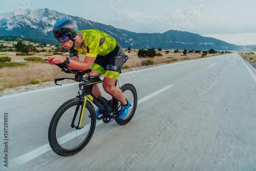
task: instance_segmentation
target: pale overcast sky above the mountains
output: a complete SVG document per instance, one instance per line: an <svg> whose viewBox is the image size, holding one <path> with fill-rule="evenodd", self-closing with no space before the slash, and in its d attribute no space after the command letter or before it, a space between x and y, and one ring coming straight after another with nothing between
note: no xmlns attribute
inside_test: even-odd
<svg viewBox="0 0 256 171"><path fill-rule="evenodd" d="M137 33L180 30L256 45L255 0L0 0L1 13L25 8L48 8Z"/></svg>

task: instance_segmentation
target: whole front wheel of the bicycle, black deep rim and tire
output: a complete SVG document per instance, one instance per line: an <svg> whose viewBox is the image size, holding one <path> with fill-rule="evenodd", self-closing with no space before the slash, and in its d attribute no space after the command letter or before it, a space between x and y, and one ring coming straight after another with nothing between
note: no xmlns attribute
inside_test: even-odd
<svg viewBox="0 0 256 171"><path fill-rule="evenodd" d="M60 156L72 156L80 152L93 136L96 116L93 105L87 101L80 124L83 108L80 98L71 99L60 106L54 114L48 131L48 140L53 151ZM88 117L91 115L91 118ZM74 120L74 125L72 121Z"/></svg>

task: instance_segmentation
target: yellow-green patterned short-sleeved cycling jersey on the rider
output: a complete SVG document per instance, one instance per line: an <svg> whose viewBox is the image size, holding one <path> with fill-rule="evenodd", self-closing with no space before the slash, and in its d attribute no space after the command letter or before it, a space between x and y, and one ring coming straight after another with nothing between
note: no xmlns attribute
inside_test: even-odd
<svg viewBox="0 0 256 171"><path fill-rule="evenodd" d="M75 47L74 50L80 54L97 57L105 56L113 51L117 45L116 40L99 30L82 30L83 46ZM77 53L73 52L73 53ZM70 53L72 53L70 51Z"/></svg>

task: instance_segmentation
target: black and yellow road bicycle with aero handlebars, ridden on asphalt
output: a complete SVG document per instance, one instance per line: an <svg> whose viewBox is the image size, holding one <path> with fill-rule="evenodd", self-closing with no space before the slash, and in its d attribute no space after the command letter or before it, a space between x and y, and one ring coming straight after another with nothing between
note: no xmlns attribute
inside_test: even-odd
<svg viewBox="0 0 256 171"><path fill-rule="evenodd" d="M127 56L125 56L125 61ZM124 61L124 62L125 62ZM78 95L65 103L55 112L50 122L48 131L48 140L53 151L60 156L72 156L80 152L91 140L96 120L109 123L115 120L120 125L125 125L131 121L137 108L137 92L131 83L126 83L119 87L118 80L115 83L121 89L126 100L131 105L127 115L123 119L117 116L121 111L121 103L115 98L106 99L104 97L96 98L92 94L94 84L102 82L98 76L90 76L91 69L86 71L73 70L65 65L58 64L61 71L74 74L74 78L57 78L57 81L71 79L79 83ZM84 75L86 77L83 77ZM81 91L81 93L80 93ZM96 118L93 104L90 99L103 114ZM91 118L88 117L91 115Z"/></svg>

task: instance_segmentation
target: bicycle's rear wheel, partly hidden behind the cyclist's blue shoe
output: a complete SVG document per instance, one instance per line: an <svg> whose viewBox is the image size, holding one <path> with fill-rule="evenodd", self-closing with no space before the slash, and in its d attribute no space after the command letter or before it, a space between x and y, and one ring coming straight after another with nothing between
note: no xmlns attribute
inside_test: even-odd
<svg viewBox="0 0 256 171"><path fill-rule="evenodd" d="M115 120L118 124L125 125L128 122L130 122L134 116L134 113L137 108L138 98L137 98L136 89L132 84L126 83L120 89L122 90L125 99L131 103L131 106L128 110L127 115L123 119L118 119L118 117L115 117ZM116 111L121 110L121 106L122 106L121 103L116 100L116 102L115 102Z"/></svg>

